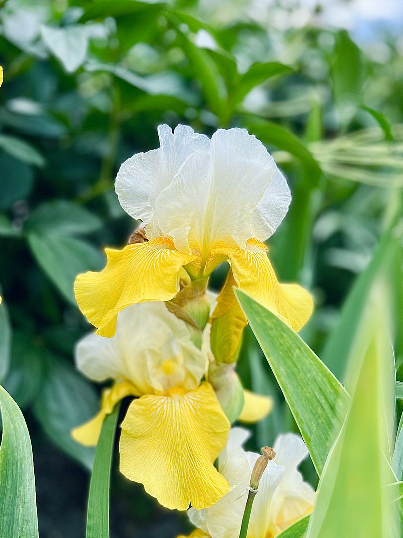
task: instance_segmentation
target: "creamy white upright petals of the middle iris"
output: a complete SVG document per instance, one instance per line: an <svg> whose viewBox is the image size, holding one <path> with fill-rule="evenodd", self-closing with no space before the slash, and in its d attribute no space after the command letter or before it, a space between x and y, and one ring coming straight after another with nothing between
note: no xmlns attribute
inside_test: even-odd
<svg viewBox="0 0 403 538"><path fill-rule="evenodd" d="M94 381L126 379L143 394L195 388L207 357L191 341L186 323L164 303L140 303L118 316L116 334L84 336L76 345L78 370Z"/></svg>

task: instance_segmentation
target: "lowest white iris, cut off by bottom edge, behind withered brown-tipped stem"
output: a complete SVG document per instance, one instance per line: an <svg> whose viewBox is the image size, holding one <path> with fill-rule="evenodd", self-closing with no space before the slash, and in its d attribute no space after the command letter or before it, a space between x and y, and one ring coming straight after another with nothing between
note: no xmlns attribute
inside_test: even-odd
<svg viewBox="0 0 403 538"><path fill-rule="evenodd" d="M190 535L192 538L239 536L251 471L259 457L242 449L248 436L242 428L230 431L218 469L227 478L231 491L210 508L189 509L189 519L198 527ZM304 442L294 434L280 435L274 450L276 457L268 462L254 500L248 538L272 538L313 508L315 492L297 470L308 455Z"/></svg>

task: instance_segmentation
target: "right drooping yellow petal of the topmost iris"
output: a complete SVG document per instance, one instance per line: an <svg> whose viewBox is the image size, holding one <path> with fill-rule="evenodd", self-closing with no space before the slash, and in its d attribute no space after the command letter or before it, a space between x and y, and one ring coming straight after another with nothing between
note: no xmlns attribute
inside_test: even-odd
<svg viewBox="0 0 403 538"><path fill-rule="evenodd" d="M279 284L266 251L256 239L248 240L246 250L228 249L234 280L243 292L299 331L312 315L312 296L297 284Z"/></svg>

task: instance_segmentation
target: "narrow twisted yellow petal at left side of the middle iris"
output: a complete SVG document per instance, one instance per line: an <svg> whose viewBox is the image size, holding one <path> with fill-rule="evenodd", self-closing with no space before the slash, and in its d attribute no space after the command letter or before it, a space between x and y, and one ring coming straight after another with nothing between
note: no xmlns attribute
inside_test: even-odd
<svg viewBox="0 0 403 538"><path fill-rule="evenodd" d="M136 387L129 381L120 381L111 388L105 388L102 393L101 409L92 419L77 428L71 430L71 437L76 443L84 447L96 447L102 424L106 415L110 415L118 401L123 400L126 396L139 396Z"/></svg>

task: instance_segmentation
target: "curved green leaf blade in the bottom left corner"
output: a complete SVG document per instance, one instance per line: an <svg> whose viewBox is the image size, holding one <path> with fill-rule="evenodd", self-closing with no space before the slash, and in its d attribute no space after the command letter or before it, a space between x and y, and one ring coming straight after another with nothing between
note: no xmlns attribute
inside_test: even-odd
<svg viewBox="0 0 403 538"><path fill-rule="evenodd" d="M0 448L0 536L39 538L30 434L24 416L0 386L3 438Z"/></svg>

